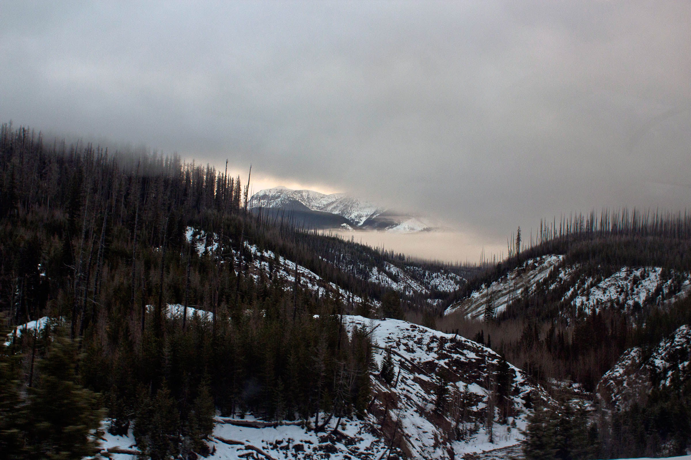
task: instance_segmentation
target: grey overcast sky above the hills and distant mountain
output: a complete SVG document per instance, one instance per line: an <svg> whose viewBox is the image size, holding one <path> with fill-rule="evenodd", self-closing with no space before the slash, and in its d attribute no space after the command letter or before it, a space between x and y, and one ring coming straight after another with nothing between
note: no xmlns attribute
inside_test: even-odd
<svg viewBox="0 0 691 460"><path fill-rule="evenodd" d="M488 241L691 203L691 2L8 1L0 120L352 191Z"/></svg>

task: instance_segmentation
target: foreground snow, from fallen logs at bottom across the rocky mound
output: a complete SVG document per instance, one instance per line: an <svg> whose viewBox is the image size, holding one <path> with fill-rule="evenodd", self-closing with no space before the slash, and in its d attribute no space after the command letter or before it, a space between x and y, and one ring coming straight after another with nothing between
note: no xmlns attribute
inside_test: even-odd
<svg viewBox="0 0 691 460"><path fill-rule="evenodd" d="M188 313L189 314L189 313ZM495 368L499 356L478 343L443 334L406 321L395 319L370 320L359 316L343 316L346 330L362 328L372 334L375 359L381 366L384 352L390 347L395 363L395 381L389 386L377 378L372 381L372 397L363 420L343 419L335 426L334 418L325 431L315 433L314 417L307 421L282 421L281 423L256 423L248 416L243 420L216 417L213 439L215 448L209 459L316 459L377 460L388 451L390 434L397 426L398 436L403 439L403 450L409 458L446 460L460 458L466 452L484 452L514 446L522 440L520 430L526 427L524 397L531 394L533 401L547 400L549 396L540 386L527 381L523 372L510 366L513 373L511 403L517 410L515 428L495 424L494 442L489 443L484 428L466 441L451 441L448 432L451 421L433 412L435 373L444 368L453 376L450 383L453 394L468 385L468 391L476 401L471 412L484 419L482 410L487 397L486 370ZM384 401L389 401L384 404ZM474 412L473 412L474 411ZM321 414L323 421L325 414ZM514 420L510 417L510 420ZM238 426L247 421L262 428ZM381 427L385 426L384 434ZM466 427L472 425L470 419ZM334 432L334 429L337 430ZM106 433L104 449L124 449L128 453L112 453L113 459L129 459L136 449L131 437L114 437ZM453 457L452 457L453 454Z"/></svg>

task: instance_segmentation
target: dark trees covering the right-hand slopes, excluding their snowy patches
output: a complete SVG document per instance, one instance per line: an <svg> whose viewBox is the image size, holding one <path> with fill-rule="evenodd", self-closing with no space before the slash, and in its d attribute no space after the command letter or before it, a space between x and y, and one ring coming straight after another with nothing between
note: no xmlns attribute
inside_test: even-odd
<svg viewBox="0 0 691 460"><path fill-rule="evenodd" d="M439 328L458 330L465 337L487 343L547 386L551 379L571 379L594 391L600 377L627 348L640 346L644 355L649 354L663 337L691 324L691 299L662 307L691 272L691 221L687 213L605 210L600 216L591 213L562 218L549 226L542 223L537 236L519 235L509 241L509 259L470 279L449 302L489 286L529 259L547 254L565 254L565 258L529 292L511 300L495 319L480 322L452 315L437 318ZM624 308L620 301L601 304L597 311L573 306L567 295L569 288L583 286L587 279L597 283L625 266L663 268L661 279L669 283L667 292L659 288L644 305L634 303L632 308ZM570 269L569 279L560 280L560 269L566 267ZM645 401L634 401L625 412L610 416L600 408L588 416L591 426L581 424L577 429L574 423L587 417L583 413L577 417L574 408L565 403L538 410L527 432L527 457L683 454L691 439L689 394L688 382L679 382L654 391ZM559 434L560 430L570 430L570 434ZM568 442L574 445L568 447Z"/></svg>

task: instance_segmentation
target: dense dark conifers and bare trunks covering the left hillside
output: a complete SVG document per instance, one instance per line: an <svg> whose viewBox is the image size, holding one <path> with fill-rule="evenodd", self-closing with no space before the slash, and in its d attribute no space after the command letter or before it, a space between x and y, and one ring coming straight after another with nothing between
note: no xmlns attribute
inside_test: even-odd
<svg viewBox="0 0 691 460"><path fill-rule="evenodd" d="M40 134L5 125L0 190L5 326L52 319L0 354L0 377L17 390L0 418L3 446L11 446L0 450L8 458L34 451L79 458L93 448L85 430L60 454L53 443L59 427L30 432L10 417L34 407L37 396L27 387L47 394L72 386L53 395L63 400L46 423L67 420L69 400L81 394L89 410L75 412L82 417L75 423L93 428L104 408L107 429L133 428L152 459L204 454L216 411L304 419L323 430L320 413L355 416L366 409L372 367L366 331L345 334L343 306L328 293L284 289L273 275L255 276L245 242L307 266L312 261L325 279L347 283L348 274L316 262L310 251L325 239L249 214L239 178L177 157L45 143ZM188 226L216 234L216 249L199 254L185 237ZM168 303L213 316L171 317ZM51 370L67 352L72 373L51 383Z"/></svg>

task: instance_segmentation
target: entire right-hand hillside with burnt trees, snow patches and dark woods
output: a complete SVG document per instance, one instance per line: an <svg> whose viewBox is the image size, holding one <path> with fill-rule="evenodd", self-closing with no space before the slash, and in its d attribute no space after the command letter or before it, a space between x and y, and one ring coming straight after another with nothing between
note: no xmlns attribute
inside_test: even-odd
<svg viewBox="0 0 691 460"><path fill-rule="evenodd" d="M578 458L683 453L691 343L679 330L691 324L690 250L685 213L579 215L543 227L530 244L519 230L511 257L469 279L437 325L498 350L565 401L585 401L600 447ZM663 363L670 343L676 352L664 372L679 372L666 379L650 363ZM612 416L612 394L625 413ZM535 423L558 430L573 410L551 408Z"/></svg>

